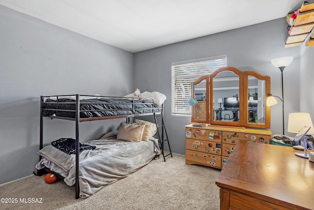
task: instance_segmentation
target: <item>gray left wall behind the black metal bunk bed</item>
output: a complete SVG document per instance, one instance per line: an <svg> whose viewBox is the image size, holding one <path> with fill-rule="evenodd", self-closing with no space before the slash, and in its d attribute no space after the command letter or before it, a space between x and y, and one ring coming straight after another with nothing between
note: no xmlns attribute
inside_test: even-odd
<svg viewBox="0 0 314 210"><path fill-rule="evenodd" d="M126 95L133 54L0 6L0 183L32 174L39 160L39 97ZM82 122L80 142L119 120ZM45 119L45 144L75 138L75 122ZM124 121L124 119L123 119Z"/></svg>

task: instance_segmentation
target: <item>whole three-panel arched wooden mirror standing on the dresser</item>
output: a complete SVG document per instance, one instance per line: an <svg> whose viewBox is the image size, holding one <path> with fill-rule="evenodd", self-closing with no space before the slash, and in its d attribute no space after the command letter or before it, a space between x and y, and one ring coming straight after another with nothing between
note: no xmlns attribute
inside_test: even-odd
<svg viewBox="0 0 314 210"><path fill-rule="evenodd" d="M207 81L204 76L197 83L194 82L197 100L200 99L197 95L200 79ZM270 128L270 108L266 106L270 77L255 71L242 72L234 67L224 67L213 72L206 84L209 85L209 92L205 95L206 99L202 100L205 105L200 104L202 108L206 108L206 117L199 115L203 118L198 120L200 106L195 105L192 107L192 122Z"/></svg>

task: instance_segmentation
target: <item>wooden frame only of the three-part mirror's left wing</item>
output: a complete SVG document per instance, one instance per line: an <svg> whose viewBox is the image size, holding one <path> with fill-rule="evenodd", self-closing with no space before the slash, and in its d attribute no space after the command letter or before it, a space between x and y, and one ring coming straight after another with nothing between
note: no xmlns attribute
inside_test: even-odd
<svg viewBox="0 0 314 210"><path fill-rule="evenodd" d="M195 120L195 106L192 106L191 107L191 122L203 122L203 123L209 123L209 75L204 75L204 76L201 76L200 78L198 78L194 83L193 87L192 87L192 83L191 83L191 88L193 88L193 92L195 93L195 89L194 89L194 86L195 85L198 85L199 83L201 83L203 80L205 80L206 82L206 102L205 102L205 105L206 105L206 108L204 109L205 110L205 120ZM194 98L195 94L193 95L193 98Z"/></svg>

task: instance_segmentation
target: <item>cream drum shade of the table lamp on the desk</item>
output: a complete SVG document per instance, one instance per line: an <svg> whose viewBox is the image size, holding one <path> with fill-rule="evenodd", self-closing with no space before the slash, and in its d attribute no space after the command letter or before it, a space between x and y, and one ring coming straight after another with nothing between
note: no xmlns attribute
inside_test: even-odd
<svg viewBox="0 0 314 210"><path fill-rule="evenodd" d="M313 122L309 113L290 113L288 118L288 132L298 133L304 126L311 127L308 133L314 133Z"/></svg>

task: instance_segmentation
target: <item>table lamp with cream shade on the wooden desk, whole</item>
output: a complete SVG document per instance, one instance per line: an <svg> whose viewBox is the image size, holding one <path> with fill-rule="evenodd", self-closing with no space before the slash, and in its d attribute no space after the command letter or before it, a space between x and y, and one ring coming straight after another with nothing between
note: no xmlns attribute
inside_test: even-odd
<svg viewBox="0 0 314 210"><path fill-rule="evenodd" d="M293 149L304 150L303 152L295 152L295 155L303 158L309 158L307 153L307 133L314 133L313 122L309 113L290 113L288 118L288 132L297 133L295 140L299 141L299 145L293 146ZM303 141L303 147L301 146Z"/></svg>

